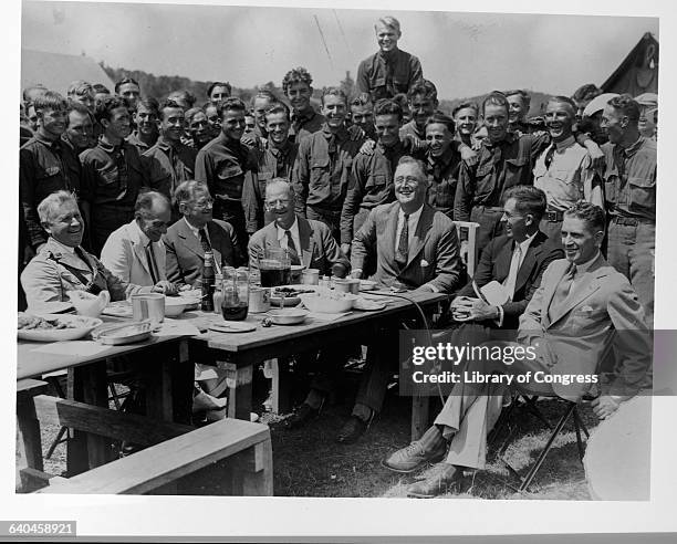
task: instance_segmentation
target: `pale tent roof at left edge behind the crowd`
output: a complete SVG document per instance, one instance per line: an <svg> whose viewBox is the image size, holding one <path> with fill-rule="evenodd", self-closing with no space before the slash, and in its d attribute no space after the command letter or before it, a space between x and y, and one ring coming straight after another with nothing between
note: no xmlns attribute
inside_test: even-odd
<svg viewBox="0 0 677 544"><path fill-rule="evenodd" d="M69 84L75 80L84 80L92 84L102 83L112 93L114 92L115 83L94 59L84 55L21 50L22 90L42 83L49 90L65 96Z"/></svg>

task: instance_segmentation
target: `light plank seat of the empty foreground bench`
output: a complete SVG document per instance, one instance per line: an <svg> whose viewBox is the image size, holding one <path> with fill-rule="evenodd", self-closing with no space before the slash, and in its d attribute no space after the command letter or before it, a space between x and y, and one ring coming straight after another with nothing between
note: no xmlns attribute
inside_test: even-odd
<svg viewBox="0 0 677 544"><path fill-rule="evenodd" d="M270 443L267 426L223 419L71 478L67 484L56 484L39 492L147 493L261 442ZM268 462L265 448L259 458L261 464ZM262 472L265 473L265 470L262 469ZM251 489L268 491L269 487L251 484Z"/></svg>

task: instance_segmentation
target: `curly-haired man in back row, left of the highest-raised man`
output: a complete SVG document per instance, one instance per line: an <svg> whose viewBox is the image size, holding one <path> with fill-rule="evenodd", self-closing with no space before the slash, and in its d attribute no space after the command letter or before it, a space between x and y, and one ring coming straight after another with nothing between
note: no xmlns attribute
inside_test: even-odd
<svg viewBox="0 0 677 544"><path fill-rule="evenodd" d="M292 126L289 134L296 144L320 130L324 123L324 117L313 109L310 102L313 95L312 83L311 74L302 66L290 70L282 80L282 92L292 106Z"/></svg>

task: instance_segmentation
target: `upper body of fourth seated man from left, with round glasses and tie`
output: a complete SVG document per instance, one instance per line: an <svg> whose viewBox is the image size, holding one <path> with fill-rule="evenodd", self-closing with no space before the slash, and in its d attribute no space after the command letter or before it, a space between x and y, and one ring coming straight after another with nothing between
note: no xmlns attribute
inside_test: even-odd
<svg viewBox="0 0 677 544"><path fill-rule="evenodd" d="M267 248L283 248L289 251L292 264L317 269L321 275L333 273L345 278L350 262L329 227L322 221L296 215L294 206L294 192L285 179L269 181L265 210L274 220L252 234L248 248L251 266L258 266L258 260L263 258Z"/></svg>

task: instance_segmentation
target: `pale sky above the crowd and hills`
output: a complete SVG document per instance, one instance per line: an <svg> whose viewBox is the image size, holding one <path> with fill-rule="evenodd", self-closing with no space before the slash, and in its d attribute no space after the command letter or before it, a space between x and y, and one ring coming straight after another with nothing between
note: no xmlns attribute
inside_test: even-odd
<svg viewBox="0 0 677 544"><path fill-rule="evenodd" d="M387 13L442 98L512 87L570 95L603 83L644 32L658 38L658 19L639 17L27 1L21 39L24 49L241 87L280 85L302 65L322 87L356 76Z"/></svg>

